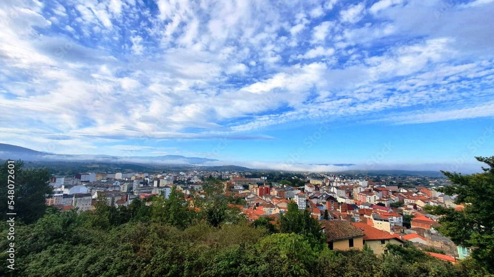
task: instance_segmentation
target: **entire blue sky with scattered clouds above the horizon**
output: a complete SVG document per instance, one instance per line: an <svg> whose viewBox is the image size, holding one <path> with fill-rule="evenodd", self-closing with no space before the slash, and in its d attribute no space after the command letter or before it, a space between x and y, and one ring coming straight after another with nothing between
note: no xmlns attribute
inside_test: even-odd
<svg viewBox="0 0 494 277"><path fill-rule="evenodd" d="M0 142L480 171L474 157L494 155L493 15L494 0L3 1Z"/></svg>

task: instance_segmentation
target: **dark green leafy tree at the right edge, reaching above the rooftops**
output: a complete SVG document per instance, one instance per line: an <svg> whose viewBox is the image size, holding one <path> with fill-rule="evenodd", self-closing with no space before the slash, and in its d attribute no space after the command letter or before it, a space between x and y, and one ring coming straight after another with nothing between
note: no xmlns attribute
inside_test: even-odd
<svg viewBox="0 0 494 277"><path fill-rule="evenodd" d="M441 206L426 207L432 214L439 215L439 231L453 242L472 247L471 256L491 274L494 273L494 156L475 157L489 167L483 173L462 175L445 172L453 185L438 191L454 196L461 210Z"/></svg>

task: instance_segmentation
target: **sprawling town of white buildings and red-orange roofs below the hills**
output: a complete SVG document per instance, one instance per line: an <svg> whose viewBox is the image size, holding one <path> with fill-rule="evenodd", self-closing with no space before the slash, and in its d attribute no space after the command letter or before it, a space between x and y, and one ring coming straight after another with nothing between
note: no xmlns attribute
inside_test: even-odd
<svg viewBox="0 0 494 277"><path fill-rule="evenodd" d="M82 212L93 210L103 197L109 206L128 207L134 199L147 202L153 195L167 199L172 189L190 201L192 195L204 194L208 180L213 179L222 194L245 200L236 206L249 222L266 217L276 224L290 202L307 210L320 220L331 250L362 250L367 244L373 253L384 254L388 243L409 242L452 263L469 256L470 249L442 236L435 228L438 217L424 210L426 206L463 208L454 204L454 197L437 191L451 181L427 176L359 177L363 175L198 170L79 173L53 176L54 194L46 205Z"/></svg>

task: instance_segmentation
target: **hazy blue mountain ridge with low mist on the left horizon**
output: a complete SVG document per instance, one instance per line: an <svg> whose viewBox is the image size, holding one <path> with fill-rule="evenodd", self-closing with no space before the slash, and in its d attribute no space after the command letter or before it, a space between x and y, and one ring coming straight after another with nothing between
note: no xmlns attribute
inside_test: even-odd
<svg viewBox="0 0 494 277"><path fill-rule="evenodd" d="M218 160L199 157L184 157L179 155L166 155L158 157L119 157L109 155L67 155L40 152L29 148L0 143L0 159L40 161L40 162L99 162L117 164L167 164L167 165L206 165Z"/></svg>

